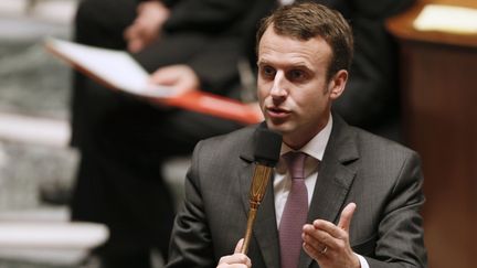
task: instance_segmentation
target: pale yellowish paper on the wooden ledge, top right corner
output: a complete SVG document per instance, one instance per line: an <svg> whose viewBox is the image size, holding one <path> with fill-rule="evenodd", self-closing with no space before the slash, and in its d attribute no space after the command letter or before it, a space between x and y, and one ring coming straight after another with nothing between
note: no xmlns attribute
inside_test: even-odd
<svg viewBox="0 0 477 268"><path fill-rule="evenodd" d="M420 31L477 34L477 9L426 4L413 24Z"/></svg>

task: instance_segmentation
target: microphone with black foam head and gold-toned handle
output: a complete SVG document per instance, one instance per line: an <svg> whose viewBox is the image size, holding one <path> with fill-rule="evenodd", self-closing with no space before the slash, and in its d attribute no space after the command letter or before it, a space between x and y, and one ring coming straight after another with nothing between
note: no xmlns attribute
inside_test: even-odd
<svg viewBox="0 0 477 268"><path fill-rule="evenodd" d="M244 243L241 249L242 254L248 251L248 244L252 237L252 228L255 222L259 204L265 195L265 191L272 176L273 169L278 162L282 148L282 133L261 128L257 129L255 143L255 170L250 190L250 212L247 226L244 236Z"/></svg>

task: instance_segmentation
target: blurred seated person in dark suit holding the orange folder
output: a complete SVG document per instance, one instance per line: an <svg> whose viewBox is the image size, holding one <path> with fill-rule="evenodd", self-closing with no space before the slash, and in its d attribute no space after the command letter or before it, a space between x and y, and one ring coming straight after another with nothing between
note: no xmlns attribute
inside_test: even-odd
<svg viewBox="0 0 477 268"><path fill-rule="evenodd" d="M153 83L172 90L202 89L237 99L244 33L254 32L261 12L269 10L258 4L85 0L76 14L75 41L128 50L153 73ZM80 149L81 162L72 219L108 226L110 237L96 251L103 267L150 267L152 249L166 260L174 200L162 178L163 161L190 154L198 140L242 125L158 107L77 73L73 86L72 144Z"/></svg>

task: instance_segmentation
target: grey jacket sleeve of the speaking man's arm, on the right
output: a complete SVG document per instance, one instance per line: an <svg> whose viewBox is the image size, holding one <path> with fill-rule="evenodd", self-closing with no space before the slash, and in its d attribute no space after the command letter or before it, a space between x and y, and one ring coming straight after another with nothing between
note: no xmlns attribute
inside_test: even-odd
<svg viewBox="0 0 477 268"><path fill-rule="evenodd" d="M423 175L413 153L403 164L379 224L379 239L370 267L427 267L421 207Z"/></svg>

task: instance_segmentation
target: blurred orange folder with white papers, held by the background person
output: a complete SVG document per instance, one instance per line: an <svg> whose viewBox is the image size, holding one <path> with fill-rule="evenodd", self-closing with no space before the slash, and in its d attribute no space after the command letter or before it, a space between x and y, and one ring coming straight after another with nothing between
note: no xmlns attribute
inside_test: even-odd
<svg viewBox="0 0 477 268"><path fill-rule="evenodd" d="M148 84L149 74L124 51L47 39L45 49L72 67L110 89L145 98L158 105L203 112L241 124L256 124L262 116L239 100L201 90L172 95L170 88Z"/></svg>

